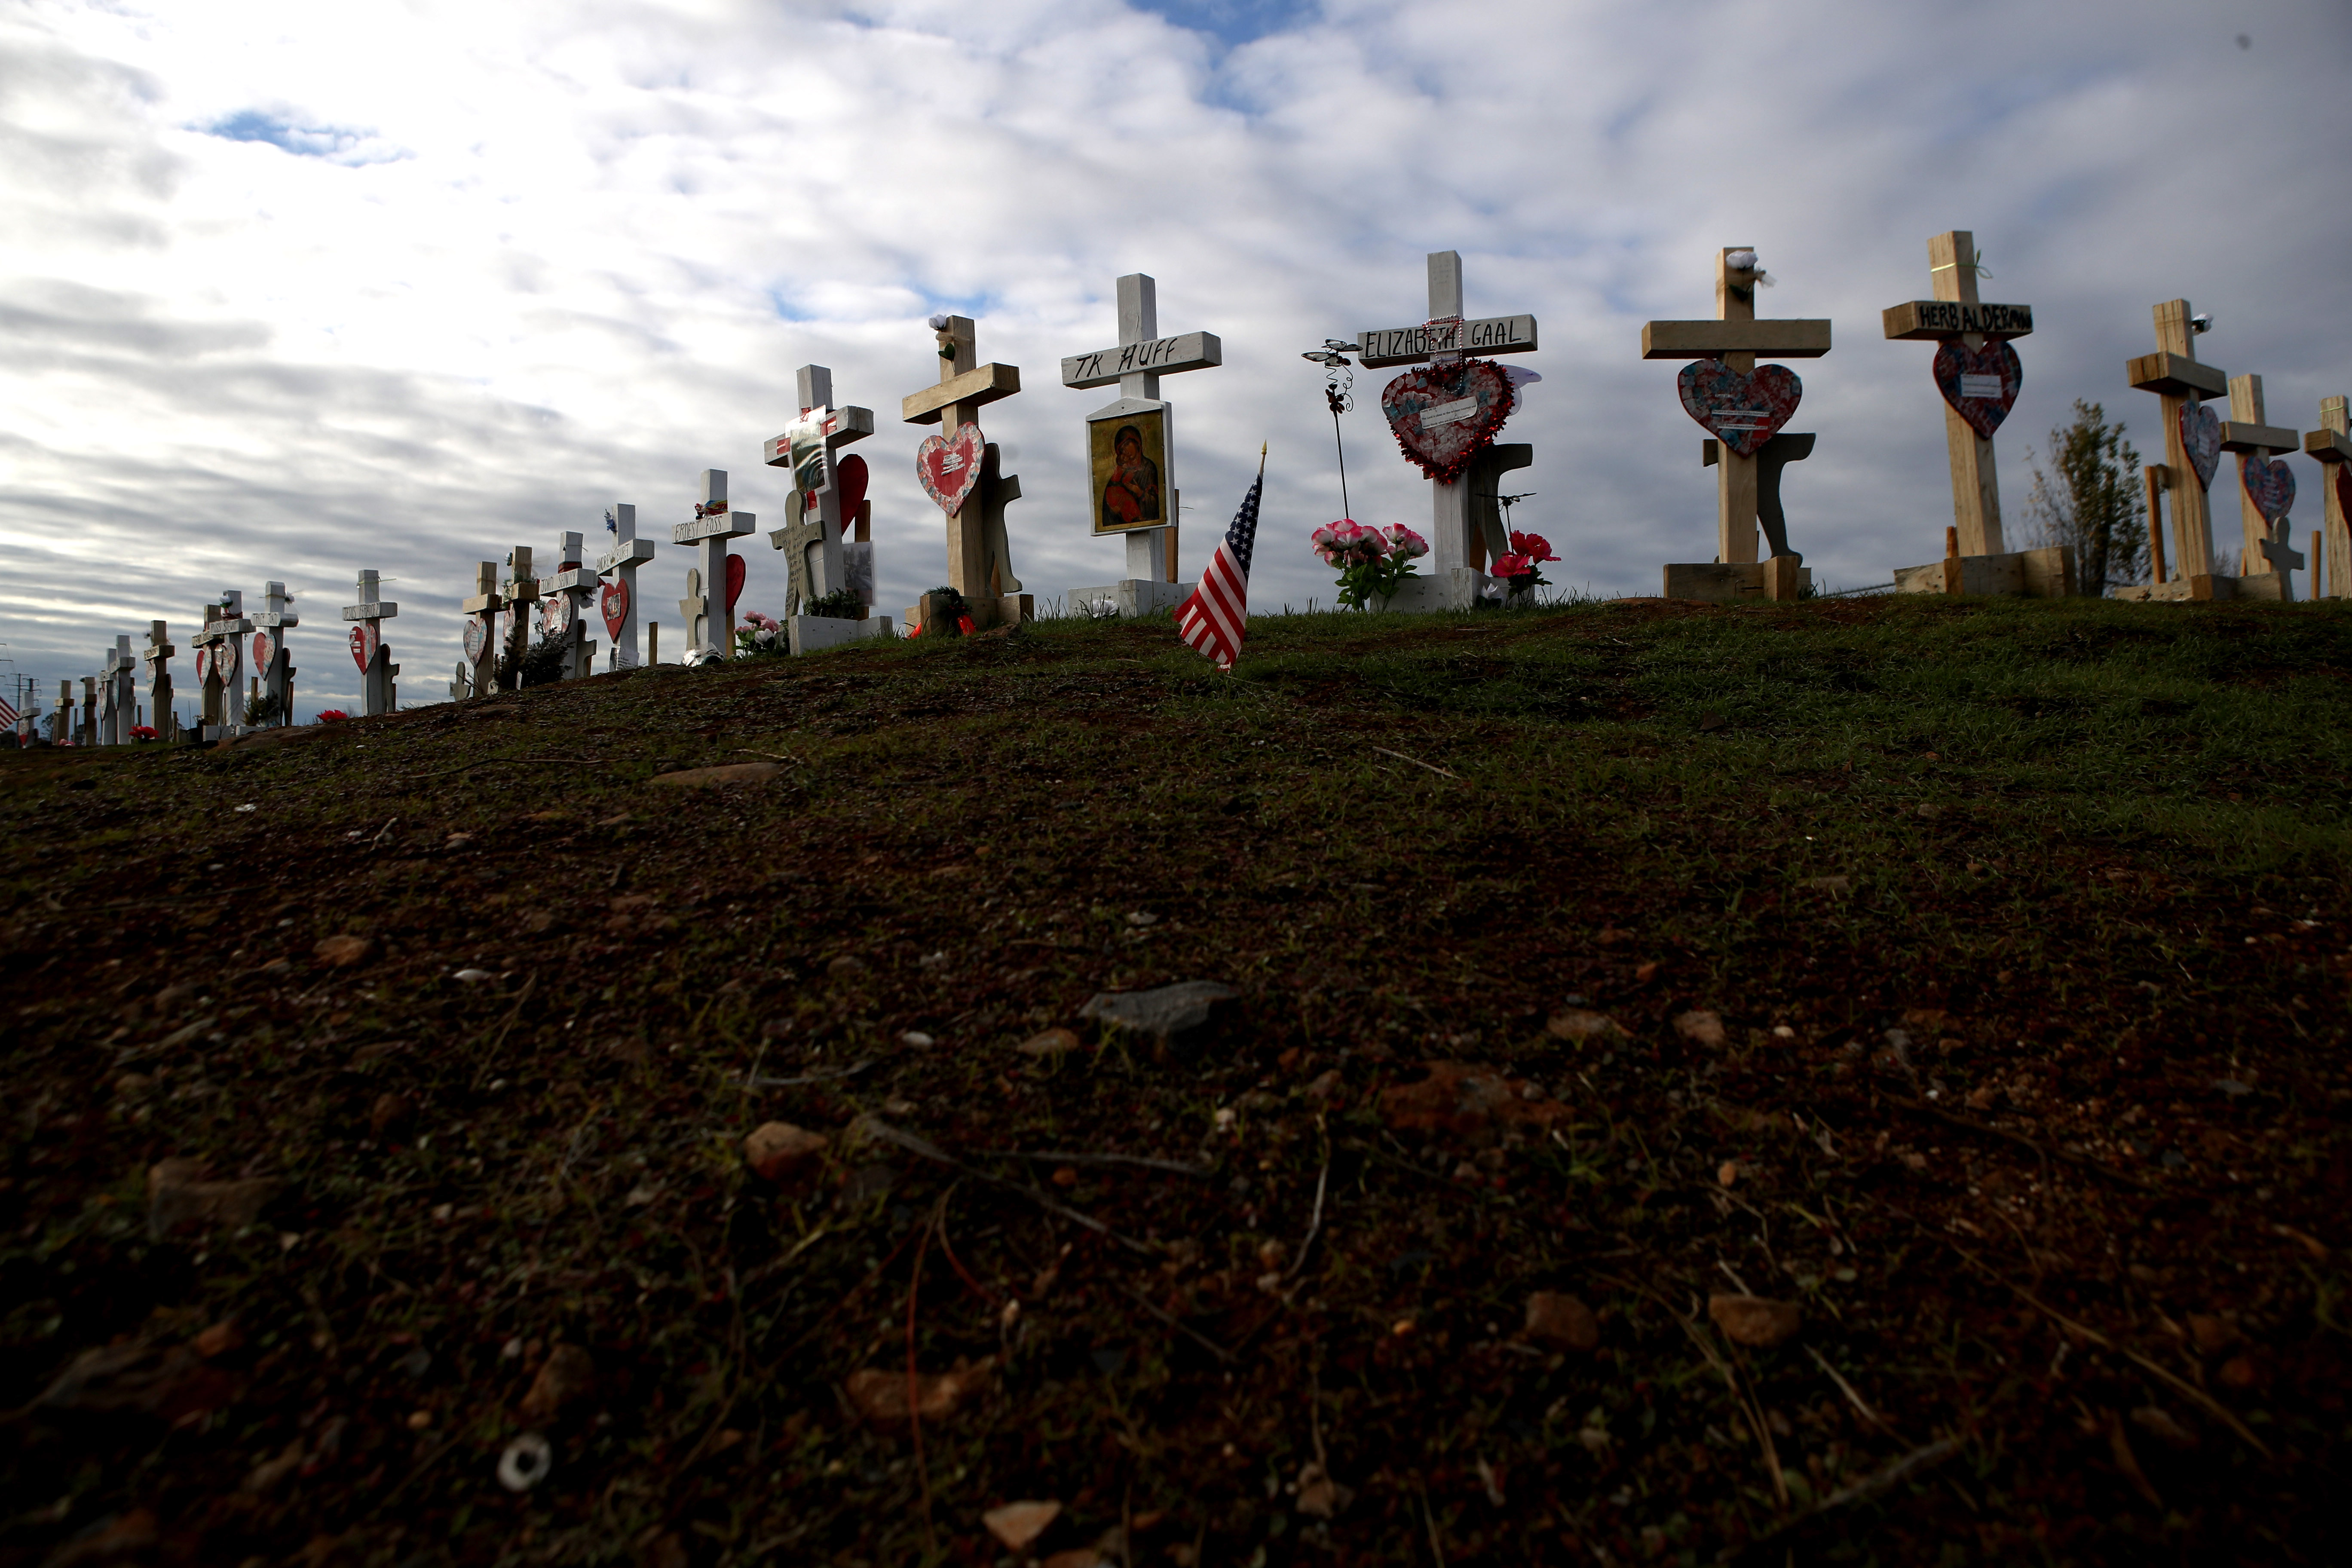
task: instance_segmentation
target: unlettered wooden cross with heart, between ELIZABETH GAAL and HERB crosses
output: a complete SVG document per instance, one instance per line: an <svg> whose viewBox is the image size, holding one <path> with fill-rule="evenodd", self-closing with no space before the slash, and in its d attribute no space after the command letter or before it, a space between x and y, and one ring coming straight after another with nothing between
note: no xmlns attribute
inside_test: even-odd
<svg viewBox="0 0 2352 1568"><path fill-rule="evenodd" d="M1644 360L1686 360L1684 411L1719 437L1715 465L1715 541L1719 562L1757 559L1757 451L1797 411L1804 383L1785 364L1757 369L1757 355L1818 360L1830 353L1830 322L1757 320L1764 266L1748 244L1715 254L1712 322L1646 322Z"/></svg>

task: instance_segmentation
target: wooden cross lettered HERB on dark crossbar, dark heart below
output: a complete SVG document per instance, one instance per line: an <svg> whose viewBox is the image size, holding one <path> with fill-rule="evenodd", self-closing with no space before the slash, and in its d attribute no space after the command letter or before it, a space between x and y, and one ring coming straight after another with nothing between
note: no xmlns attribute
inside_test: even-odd
<svg viewBox="0 0 2352 1568"><path fill-rule="evenodd" d="M2034 329L2032 306L1987 306L1976 296L1976 235L1955 228L1926 242L1929 289L1936 299L1889 306L1886 336L1936 343L1936 390L1943 393L1943 435L1952 454L1952 524L1962 555L2006 555L2002 487L1992 468L1992 433L2018 402L2025 367L2011 339Z"/></svg>

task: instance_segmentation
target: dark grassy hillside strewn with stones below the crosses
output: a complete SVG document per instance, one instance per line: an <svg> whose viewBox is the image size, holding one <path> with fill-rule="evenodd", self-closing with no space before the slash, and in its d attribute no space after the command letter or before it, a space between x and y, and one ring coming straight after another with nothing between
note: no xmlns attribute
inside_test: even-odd
<svg viewBox="0 0 2352 1568"><path fill-rule="evenodd" d="M2340 1559L2347 672L1049 623L12 755L0 1563Z"/></svg>

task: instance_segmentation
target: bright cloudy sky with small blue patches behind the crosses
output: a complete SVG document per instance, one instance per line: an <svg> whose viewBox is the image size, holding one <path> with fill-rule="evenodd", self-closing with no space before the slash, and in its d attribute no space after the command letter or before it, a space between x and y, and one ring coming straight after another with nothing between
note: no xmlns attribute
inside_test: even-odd
<svg viewBox="0 0 2352 1568"><path fill-rule="evenodd" d="M1929 294L1936 230L1973 228L1985 296L2034 306L2013 529L2074 397L2161 447L2122 381L2154 301L2216 315L2201 355L2260 371L2272 423L2352 390L2347 80L2343 0L0 0L0 656L47 698L115 632L160 616L186 646L205 595L280 578L303 712L355 708L339 611L374 567L402 698L440 701L473 562L548 559L609 501L666 541L703 468L781 527L760 442L807 362L877 414L858 451L906 604L946 574L896 418L936 378L934 310L1023 367L983 421L1028 491L1023 583L1110 581L1080 468L1105 393L1056 360L1115 341L1129 270L1162 331L1225 341L1164 383L1185 562L1265 440L1251 599L1329 602L1305 534L1338 515L1331 421L1298 350L1418 322L1430 249L1463 254L1472 315L1541 320L1519 520L1555 581L1621 595L1715 555L1700 430L1639 327L1712 315L1715 249L1755 244L1764 313L1837 324L1797 367L1795 545L1884 583L1950 522L1929 348L1879 334ZM1345 440L1355 515L1425 527L1374 395ZM781 557L746 555L743 604L781 609ZM684 564L644 576L673 651Z"/></svg>

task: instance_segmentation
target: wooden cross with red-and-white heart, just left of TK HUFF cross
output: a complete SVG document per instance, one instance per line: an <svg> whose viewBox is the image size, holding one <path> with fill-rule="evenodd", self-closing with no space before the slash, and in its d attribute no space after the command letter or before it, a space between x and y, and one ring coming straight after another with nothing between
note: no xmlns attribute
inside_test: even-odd
<svg viewBox="0 0 2352 1568"><path fill-rule="evenodd" d="M938 435L927 435L915 449L915 480L948 515L948 585L971 604L976 625L1023 621L1033 604L1014 576L1011 543L988 527L993 496L983 494L983 482L990 447L976 423L983 404L1021 390L1021 367L978 364L978 329L969 315L934 315L931 331L938 383L901 397L898 418L938 425ZM1011 477L993 484L1011 484ZM908 623L922 628L920 607Z"/></svg>

